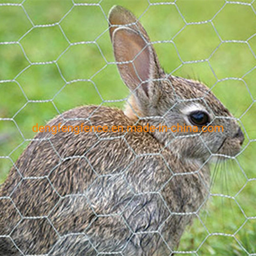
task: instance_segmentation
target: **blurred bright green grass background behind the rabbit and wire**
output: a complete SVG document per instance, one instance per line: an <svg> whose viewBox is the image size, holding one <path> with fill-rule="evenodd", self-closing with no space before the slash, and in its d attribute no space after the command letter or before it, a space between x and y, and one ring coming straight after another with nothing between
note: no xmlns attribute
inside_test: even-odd
<svg viewBox="0 0 256 256"><path fill-rule="evenodd" d="M0 3L20 2L0 0ZM151 3L159 2L172 1L151 0ZM174 71L174 75L207 84L231 112L240 117L249 139L256 139L256 108L253 104L256 99L256 68L253 69L256 66L256 36L253 36L256 33L256 14L251 6L226 4L212 24L189 25L178 33L185 23L173 4L148 8L147 0L103 0L100 5L105 15L114 4L127 7L137 17L142 15L140 20L152 41L173 39L173 42L154 44L165 71ZM186 22L198 22L212 19L225 1L177 0L176 4ZM72 7L72 2L27 0L23 6L33 23L42 25L60 21ZM255 10L256 1L252 6ZM121 81L116 66L106 65L114 61L114 57L103 12L99 6L75 6L60 22L66 38L59 26L33 28L23 37L33 27L23 9L20 6L0 6L0 42L20 42L0 44L0 80L15 78L15 82L0 84L0 117L14 117L15 121L0 121L0 156L9 156L8 159L0 158L0 182L4 181L12 161L16 161L28 144L21 133L25 139L33 138L35 134L32 126L35 123L43 125L58 114L54 105L60 112L85 104L101 104L102 100L103 105L123 106L124 101L118 100L127 96L128 89ZM221 39L249 38L248 44L229 41L218 47ZM68 41L92 43L68 47ZM209 62L181 65L182 61L205 60L210 56ZM25 69L29 65L28 60L57 60L57 65L32 65ZM243 80L218 81L227 77ZM91 81L66 84L66 81L76 79ZM52 101L28 103L27 100ZM111 100L117 101L108 102ZM240 256L247 255L246 252L256 253L256 221L246 219L256 216L256 182L247 180L256 178L253 161L256 142L248 141L246 138L244 151L237 161L229 161L219 167L212 188L213 193L235 196L236 201L211 197L208 206L203 206L199 213L200 220L196 218L194 224L188 227L179 250L196 251L199 248L198 255ZM237 195L241 188L242 191ZM209 235L212 233L235 234L235 237Z"/></svg>

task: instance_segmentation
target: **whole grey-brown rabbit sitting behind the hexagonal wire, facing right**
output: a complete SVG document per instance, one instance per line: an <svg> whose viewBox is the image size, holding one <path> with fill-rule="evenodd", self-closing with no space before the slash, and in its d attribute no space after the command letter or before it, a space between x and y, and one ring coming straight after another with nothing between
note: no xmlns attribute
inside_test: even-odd
<svg viewBox="0 0 256 256"><path fill-rule="evenodd" d="M113 6L108 17L131 92L125 110L82 106L47 124L109 132L36 134L0 188L0 255L174 255L209 195L212 155L241 150L244 134L220 100L201 82L165 74L130 11ZM198 131L110 131L178 123ZM209 124L223 131L202 132Z"/></svg>

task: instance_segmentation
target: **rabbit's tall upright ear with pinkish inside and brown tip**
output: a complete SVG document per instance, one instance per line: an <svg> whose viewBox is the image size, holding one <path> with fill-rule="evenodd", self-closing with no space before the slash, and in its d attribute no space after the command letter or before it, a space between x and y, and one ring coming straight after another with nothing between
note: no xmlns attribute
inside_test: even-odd
<svg viewBox="0 0 256 256"><path fill-rule="evenodd" d="M137 89L135 95L140 103L154 105L159 95L159 81L154 79L159 78L160 68L145 29L138 24L131 27L122 26L127 22L136 21L133 14L123 7L114 7L109 17L111 24L120 25L110 27L110 36L115 59L118 62L117 67L124 83L131 91Z"/></svg>

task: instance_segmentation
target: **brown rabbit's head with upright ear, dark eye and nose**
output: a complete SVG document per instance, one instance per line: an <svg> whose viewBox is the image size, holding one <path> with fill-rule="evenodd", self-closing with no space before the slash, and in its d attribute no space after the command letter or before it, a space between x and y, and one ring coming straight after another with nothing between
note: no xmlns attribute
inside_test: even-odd
<svg viewBox="0 0 256 256"><path fill-rule="evenodd" d="M220 100L198 81L165 74L147 32L131 12L114 6L109 12L109 22L117 67L132 92L126 116L155 127L159 123L169 128L177 124L182 128L196 126L197 131L181 132L173 128L174 132L170 129L152 132L163 147L180 157L205 161L212 154L235 156L244 135ZM217 130L202 132L203 125ZM214 126L221 126L220 131Z"/></svg>

